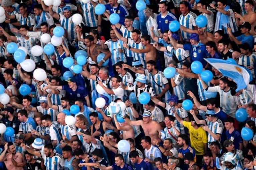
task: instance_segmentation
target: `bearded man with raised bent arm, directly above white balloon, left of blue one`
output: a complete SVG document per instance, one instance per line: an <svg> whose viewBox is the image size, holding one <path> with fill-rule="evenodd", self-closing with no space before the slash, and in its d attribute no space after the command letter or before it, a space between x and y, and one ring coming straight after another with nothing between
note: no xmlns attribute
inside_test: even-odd
<svg viewBox="0 0 256 170"><path fill-rule="evenodd" d="M71 105L70 105L70 99L68 97L62 97L60 99L60 105L52 105L51 99L50 99L50 94L47 95L47 102L48 106L54 110L57 110L58 112L63 112L63 110L69 110Z"/></svg>

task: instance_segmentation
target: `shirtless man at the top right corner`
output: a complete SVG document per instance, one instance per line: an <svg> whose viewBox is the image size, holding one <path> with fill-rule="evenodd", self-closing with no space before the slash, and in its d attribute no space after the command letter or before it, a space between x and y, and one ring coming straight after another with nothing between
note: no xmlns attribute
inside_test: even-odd
<svg viewBox="0 0 256 170"><path fill-rule="evenodd" d="M256 13L253 11L254 2L252 0L247 0L244 3L244 9L247 12L244 16L241 16L238 13L234 13L236 18L236 25L239 27L244 22L249 22L251 24L250 34L255 35L254 27L256 26Z"/></svg>

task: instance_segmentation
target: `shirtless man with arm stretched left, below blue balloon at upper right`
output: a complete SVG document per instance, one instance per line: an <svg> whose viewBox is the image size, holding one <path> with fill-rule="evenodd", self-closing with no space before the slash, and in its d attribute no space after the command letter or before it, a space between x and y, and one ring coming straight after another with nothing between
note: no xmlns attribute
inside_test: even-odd
<svg viewBox="0 0 256 170"><path fill-rule="evenodd" d="M206 42L209 42L209 41L215 42L215 41L214 41L214 36L213 36L213 34L207 32L207 31L206 31L206 27L204 27L204 28L198 27L197 30L191 30L191 29L188 29L188 28L186 28L186 27L180 25L180 29L183 30L183 31L185 31L185 32L187 32L187 33L189 33L189 34L192 34L192 33L198 34L198 35L199 35L199 40L200 40L203 44L205 44ZM217 42L216 42L216 45L218 45Z"/></svg>

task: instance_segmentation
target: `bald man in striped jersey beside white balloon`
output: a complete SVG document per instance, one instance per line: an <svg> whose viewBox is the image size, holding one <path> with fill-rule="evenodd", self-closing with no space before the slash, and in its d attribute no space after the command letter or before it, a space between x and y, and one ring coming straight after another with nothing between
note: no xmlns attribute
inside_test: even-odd
<svg viewBox="0 0 256 170"><path fill-rule="evenodd" d="M77 139L76 127L74 125L68 126L65 123L65 117L66 117L66 114L63 112L59 113L57 116L57 121L60 124L60 132L62 137L65 136L66 140L73 142L74 140ZM67 145L67 143L63 142L61 144L61 147L65 145Z"/></svg>

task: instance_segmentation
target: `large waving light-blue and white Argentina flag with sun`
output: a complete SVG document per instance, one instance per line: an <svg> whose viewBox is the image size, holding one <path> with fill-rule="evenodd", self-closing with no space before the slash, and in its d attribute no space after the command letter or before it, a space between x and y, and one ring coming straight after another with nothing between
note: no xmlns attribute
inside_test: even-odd
<svg viewBox="0 0 256 170"><path fill-rule="evenodd" d="M252 81L251 71L247 68L229 62L223 59L217 58L204 58L209 64L216 68L219 72L228 78L233 79L237 84L236 92L247 87L250 81Z"/></svg>

